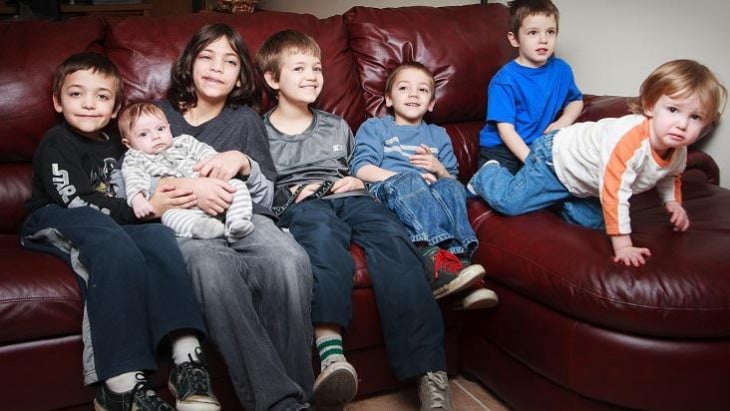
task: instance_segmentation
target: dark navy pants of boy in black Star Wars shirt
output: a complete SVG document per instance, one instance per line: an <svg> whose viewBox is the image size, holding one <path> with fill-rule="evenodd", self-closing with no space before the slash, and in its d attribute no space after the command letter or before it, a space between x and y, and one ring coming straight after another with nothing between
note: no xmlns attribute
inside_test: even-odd
<svg viewBox="0 0 730 411"><path fill-rule="evenodd" d="M180 250L161 224L119 225L90 207L33 212L22 244L72 266L85 302L85 382L156 369L160 342L175 330L205 334Z"/></svg>

